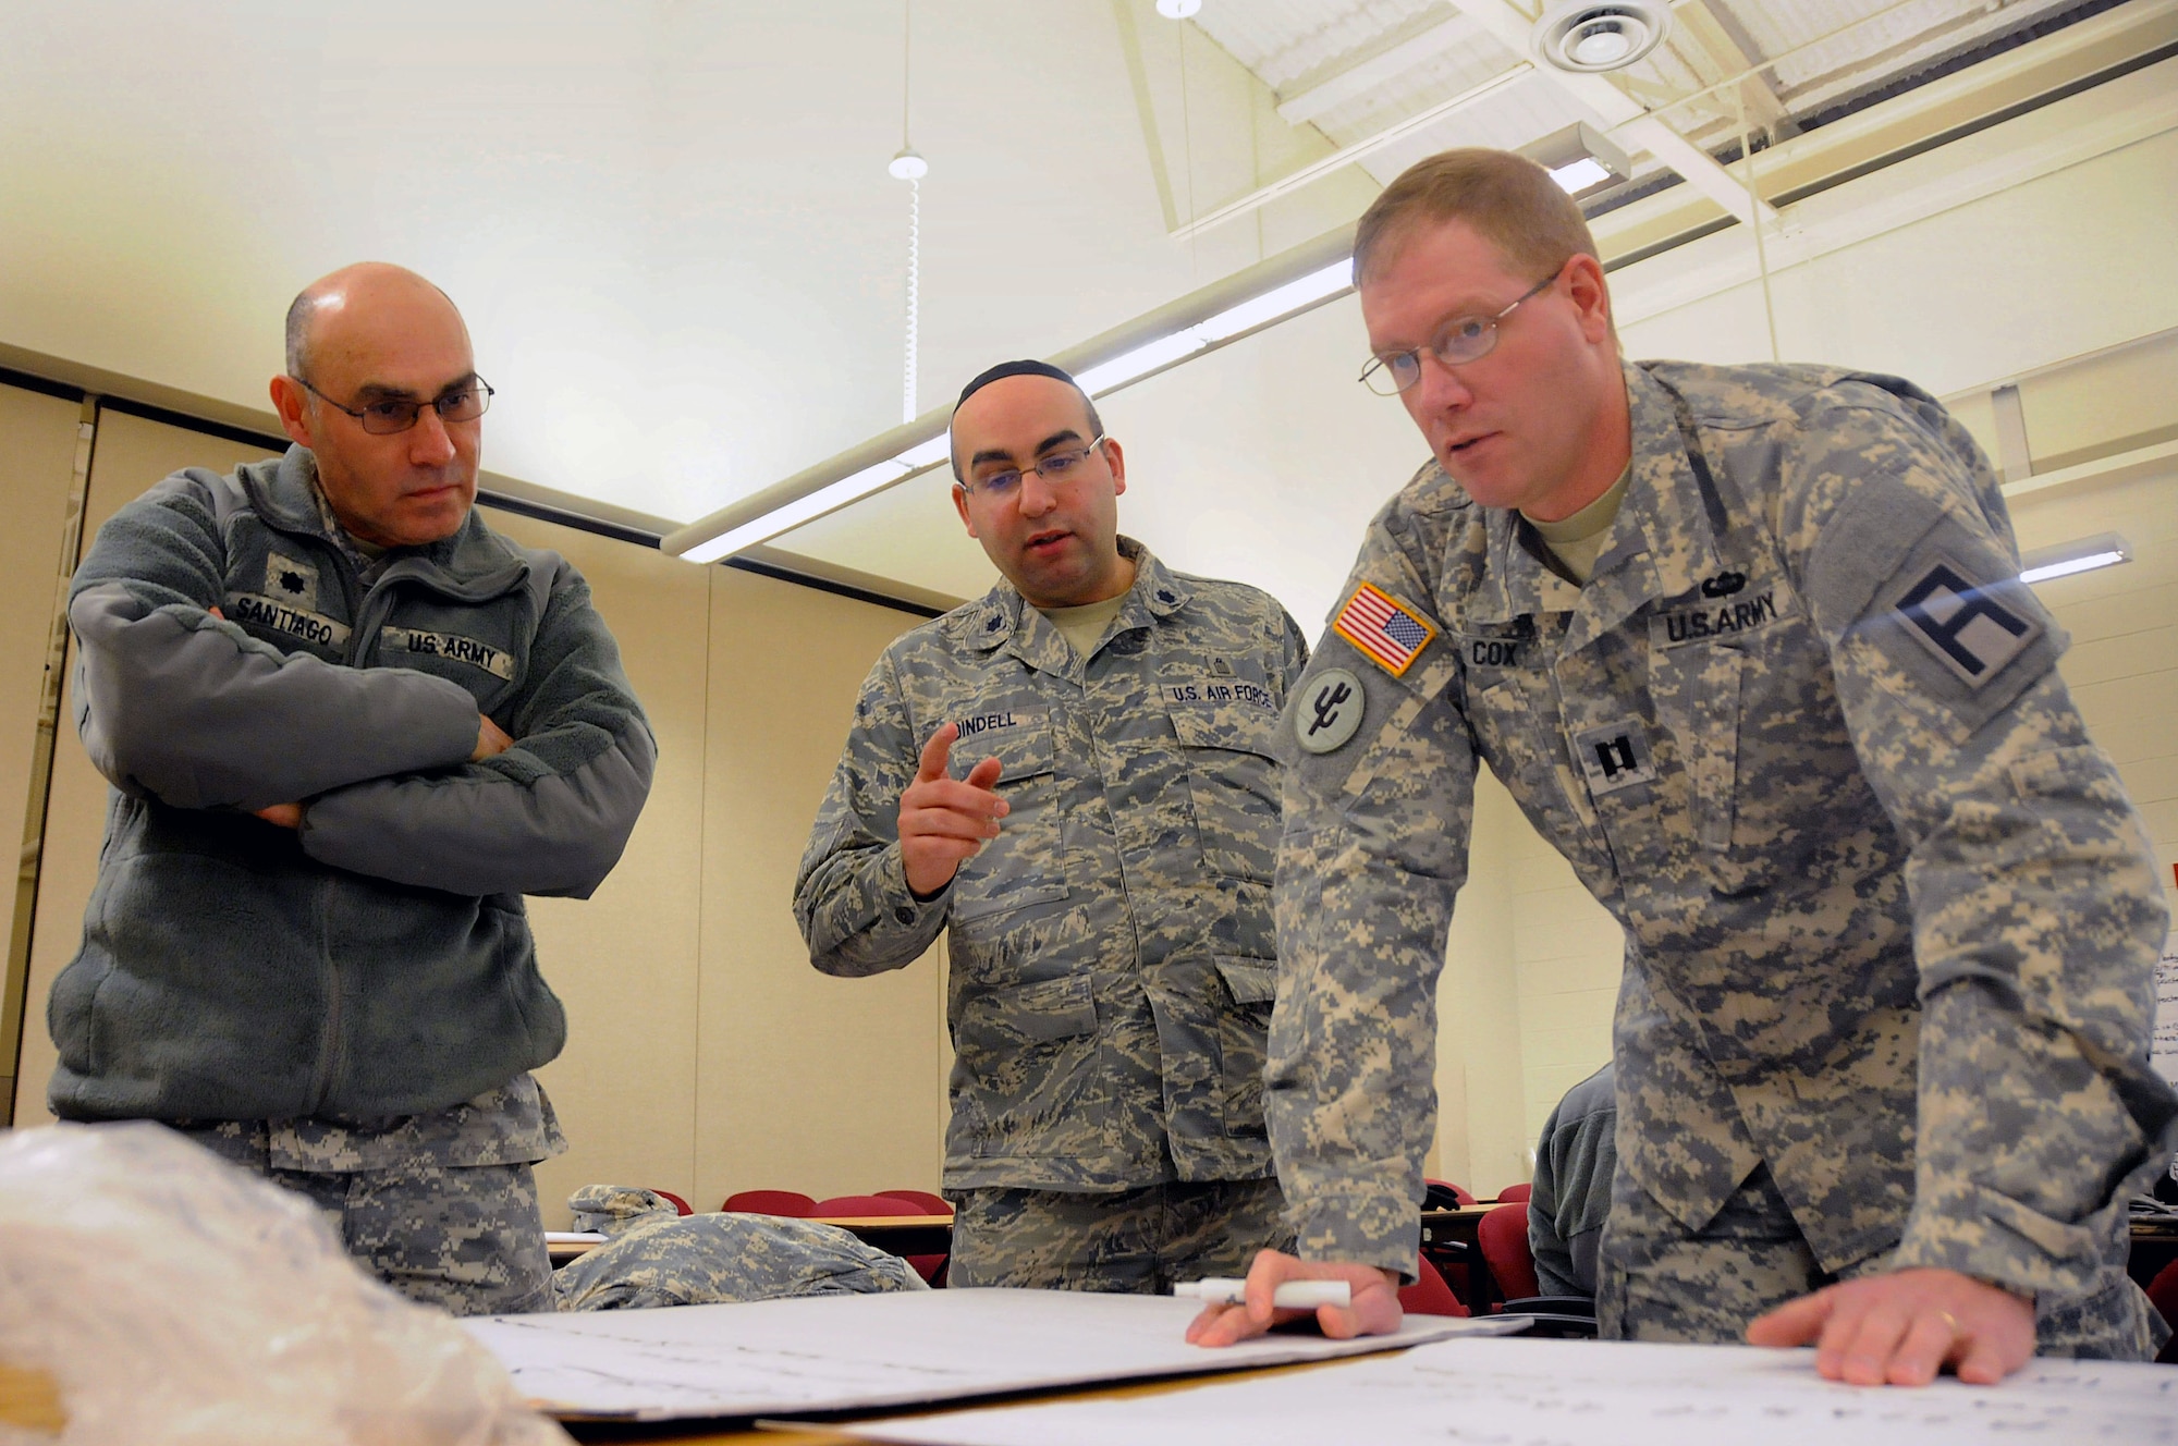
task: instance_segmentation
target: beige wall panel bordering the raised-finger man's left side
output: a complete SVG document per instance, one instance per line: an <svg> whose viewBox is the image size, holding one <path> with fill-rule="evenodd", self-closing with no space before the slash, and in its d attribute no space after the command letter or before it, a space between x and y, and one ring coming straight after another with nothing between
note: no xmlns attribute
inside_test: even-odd
<svg viewBox="0 0 2178 1446"><path fill-rule="evenodd" d="M906 612L732 568L710 577L703 777L699 1209L736 1189L937 1189L939 960L862 980L817 973L795 867ZM937 949L932 949L937 954Z"/></svg>

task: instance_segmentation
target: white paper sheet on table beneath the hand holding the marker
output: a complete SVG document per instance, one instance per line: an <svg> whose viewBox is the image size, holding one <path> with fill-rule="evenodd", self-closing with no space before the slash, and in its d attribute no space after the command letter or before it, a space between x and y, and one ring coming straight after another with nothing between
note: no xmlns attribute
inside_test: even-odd
<svg viewBox="0 0 2178 1446"><path fill-rule="evenodd" d="M943 1289L462 1324L540 1409L629 1420L926 1405L1322 1361L1527 1324L1409 1315L1398 1335L1333 1341L1276 1333L1207 1350L1183 1339L1198 1309L1172 1296Z"/></svg>

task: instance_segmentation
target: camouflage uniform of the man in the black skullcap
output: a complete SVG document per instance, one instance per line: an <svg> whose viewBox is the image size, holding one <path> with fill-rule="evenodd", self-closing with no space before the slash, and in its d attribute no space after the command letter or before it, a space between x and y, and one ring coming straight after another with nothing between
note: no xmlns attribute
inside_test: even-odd
<svg viewBox="0 0 2178 1446"><path fill-rule="evenodd" d="M1089 658L1004 581L884 651L795 882L825 973L900 969L947 930L952 1283L1126 1289L1111 1239L1054 1248L1080 1239L1078 1202L1021 1191L1104 1196L1113 1230L1157 1239L1189 1233L1183 1196L1202 1193L1165 1187L1248 1182L1224 1191L1237 1259L1283 1239L1263 1135L1272 734L1307 645L1263 592L1119 544L1135 586ZM919 902L900 795L947 721L954 775L998 758L1011 812Z"/></svg>

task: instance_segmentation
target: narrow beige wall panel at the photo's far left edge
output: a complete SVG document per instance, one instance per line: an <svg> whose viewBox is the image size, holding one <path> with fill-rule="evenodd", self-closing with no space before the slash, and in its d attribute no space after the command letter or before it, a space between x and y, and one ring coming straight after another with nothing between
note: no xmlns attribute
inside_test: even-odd
<svg viewBox="0 0 2178 1446"><path fill-rule="evenodd" d="M37 708L46 684L54 584L68 488L76 473L76 422L83 407L59 396L0 385L0 838L13 849L30 801ZM20 889L0 889L0 941L13 939ZM44 1034L41 1010L24 1010L22 976L0 965L0 1108L15 1084L20 1030Z"/></svg>

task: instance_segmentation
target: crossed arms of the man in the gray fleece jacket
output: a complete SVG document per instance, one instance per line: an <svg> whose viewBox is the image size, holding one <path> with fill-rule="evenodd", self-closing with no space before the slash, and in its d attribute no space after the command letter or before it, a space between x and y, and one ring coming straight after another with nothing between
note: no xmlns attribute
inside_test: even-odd
<svg viewBox="0 0 2178 1446"><path fill-rule="evenodd" d="M625 847L656 743L560 566L505 727L455 682L281 653L220 614L224 547L187 477L100 529L76 573L76 725L118 788L294 828L355 873L449 893L588 895Z"/></svg>

